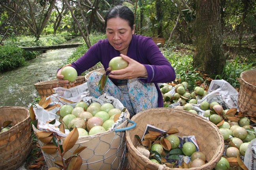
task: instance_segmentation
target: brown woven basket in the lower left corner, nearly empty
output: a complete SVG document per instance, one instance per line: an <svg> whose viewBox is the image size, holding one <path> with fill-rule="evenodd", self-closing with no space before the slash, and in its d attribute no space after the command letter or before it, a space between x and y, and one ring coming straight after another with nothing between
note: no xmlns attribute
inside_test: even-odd
<svg viewBox="0 0 256 170"><path fill-rule="evenodd" d="M31 150L31 124L28 108L18 106L0 107L0 125L12 121L8 131L0 133L0 169L15 170Z"/></svg>

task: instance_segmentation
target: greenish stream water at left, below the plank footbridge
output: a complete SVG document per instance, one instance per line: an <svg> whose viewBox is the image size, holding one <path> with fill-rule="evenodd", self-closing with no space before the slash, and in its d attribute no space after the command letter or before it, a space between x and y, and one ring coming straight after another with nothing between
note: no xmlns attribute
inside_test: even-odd
<svg viewBox="0 0 256 170"><path fill-rule="evenodd" d="M0 74L0 106L29 107L39 97L34 84L56 78L56 70L74 50L49 50L30 60L27 66Z"/></svg>

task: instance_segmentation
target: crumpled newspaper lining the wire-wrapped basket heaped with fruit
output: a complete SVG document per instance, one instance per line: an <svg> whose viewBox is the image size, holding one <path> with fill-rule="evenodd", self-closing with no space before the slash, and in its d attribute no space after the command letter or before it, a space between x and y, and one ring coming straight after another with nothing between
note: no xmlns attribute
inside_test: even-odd
<svg viewBox="0 0 256 170"><path fill-rule="evenodd" d="M89 96L90 94L88 92L87 82L79 86L72 87L70 89L57 87L55 88L55 92L57 93L46 98L46 100L51 98L50 105L59 104L61 107L64 104L69 104L74 107L79 101L83 100L88 105L90 105L93 102L100 103L101 105L104 103L111 103L115 108L119 108L120 110L124 109L124 106L118 99L109 96L105 93L98 97L98 99ZM72 101L73 103L69 103L66 100ZM60 110L60 107L55 107L52 110L45 110L40 105L36 104L36 108L34 108L34 113L36 115L36 119L38 120L38 130L55 132L59 136L63 137L66 137L68 135L68 133L70 132L68 129L65 129L65 133L62 133L59 131L59 128L57 127L60 125L60 122L58 121L60 116L58 116L56 112ZM111 130L115 130L117 126L120 125L126 119L127 114L127 111L122 112L122 114L119 117L119 120L117 120L112 125ZM55 120L55 123L48 123L52 120Z"/></svg>

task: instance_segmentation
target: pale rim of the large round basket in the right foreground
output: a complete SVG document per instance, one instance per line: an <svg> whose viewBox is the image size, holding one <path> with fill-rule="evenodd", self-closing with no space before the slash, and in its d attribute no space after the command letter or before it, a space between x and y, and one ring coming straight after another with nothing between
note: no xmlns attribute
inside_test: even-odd
<svg viewBox="0 0 256 170"><path fill-rule="evenodd" d="M176 111L176 112L184 112L185 114L189 114L190 116L195 116L196 118L198 119L201 119L203 121L206 121L206 119L202 118L200 115L196 115L196 114L192 114L192 113L189 113L188 111L186 110L179 110L179 109L175 109L175 108L151 108L151 109L147 109L147 110L143 110L142 112L151 112L152 110L156 110L156 109L164 109L164 110L173 110L173 111ZM138 114L136 114L138 115ZM134 118L137 118L138 116L133 116L132 119ZM131 123L128 123L128 126L130 125ZM204 170L204 169L209 169L209 167L211 167L212 163L213 162L218 162L219 158L217 157L217 155L219 153L223 153L224 152L224 138L223 136L221 135L220 131L218 130L218 127L216 125L214 125L213 123L209 123L209 125L211 125L213 128L216 129L216 132L219 134L218 136L220 137L220 141L223 141L221 142L220 145L218 145L218 148L215 152L215 154L213 155L213 158L211 159L211 161L209 161L208 163L200 166L200 169ZM180 168L169 168L169 167L166 167L164 166L163 164L156 164L156 163L153 163L151 162L147 157L145 157L144 155L141 155L141 153L138 152L138 150L135 148L135 146L132 144L132 141L130 139L130 130L126 131L126 146L128 147L128 153L130 153L130 150L132 150L131 154L132 155L136 155L137 157L139 157L141 160L143 160L145 162L145 164L151 164L152 166L154 166L155 168L158 168L158 169L161 169L161 168L164 168L165 170L180 170ZM185 168L184 170L198 170L199 167L197 168Z"/></svg>

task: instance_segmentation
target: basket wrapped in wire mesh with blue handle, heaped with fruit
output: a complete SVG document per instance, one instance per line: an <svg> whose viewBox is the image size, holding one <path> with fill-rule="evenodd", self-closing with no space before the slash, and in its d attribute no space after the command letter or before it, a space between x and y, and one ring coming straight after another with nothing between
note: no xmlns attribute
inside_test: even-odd
<svg viewBox="0 0 256 170"><path fill-rule="evenodd" d="M126 120L117 129L125 128L128 123L130 113L128 110L125 112ZM35 133L39 132L34 125L33 130ZM41 147L45 145L40 140L38 143ZM75 149L86 146L87 148L79 153L82 158L80 170L122 170L126 153L125 143L125 131L108 130L96 135L80 136L73 148L65 153L64 159L71 157ZM55 166L55 161L61 160L58 151L54 154L43 152L43 155L48 168Z"/></svg>

